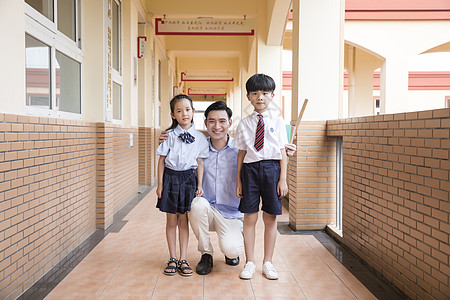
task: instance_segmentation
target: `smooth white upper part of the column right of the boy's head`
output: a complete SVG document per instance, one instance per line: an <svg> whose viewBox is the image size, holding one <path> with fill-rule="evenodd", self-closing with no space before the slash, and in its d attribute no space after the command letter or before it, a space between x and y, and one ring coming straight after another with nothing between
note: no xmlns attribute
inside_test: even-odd
<svg viewBox="0 0 450 300"><path fill-rule="evenodd" d="M344 1L294 0L292 119L337 119L342 97Z"/></svg>

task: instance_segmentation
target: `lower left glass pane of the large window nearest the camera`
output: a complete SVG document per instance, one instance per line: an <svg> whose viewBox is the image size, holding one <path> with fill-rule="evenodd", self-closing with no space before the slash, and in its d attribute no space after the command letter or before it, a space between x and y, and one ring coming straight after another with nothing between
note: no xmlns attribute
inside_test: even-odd
<svg viewBox="0 0 450 300"><path fill-rule="evenodd" d="M27 105L51 108L50 47L25 35Z"/></svg>

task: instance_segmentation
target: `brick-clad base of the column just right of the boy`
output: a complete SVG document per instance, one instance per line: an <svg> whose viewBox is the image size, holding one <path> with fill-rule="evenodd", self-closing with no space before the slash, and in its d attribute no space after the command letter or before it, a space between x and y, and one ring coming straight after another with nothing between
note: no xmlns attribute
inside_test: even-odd
<svg viewBox="0 0 450 300"><path fill-rule="evenodd" d="M289 157L289 223L295 230L335 224L336 143L326 122L301 122L296 155Z"/></svg>

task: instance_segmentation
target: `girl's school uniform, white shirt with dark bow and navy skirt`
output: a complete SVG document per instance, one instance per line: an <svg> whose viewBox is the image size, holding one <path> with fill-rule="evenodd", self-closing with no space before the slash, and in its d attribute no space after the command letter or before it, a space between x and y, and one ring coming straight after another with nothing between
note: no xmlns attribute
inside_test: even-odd
<svg viewBox="0 0 450 300"><path fill-rule="evenodd" d="M197 158L207 158L209 144L205 135L191 126L180 125L168 131L169 137L161 143L156 154L165 156L163 191L156 207L166 213L184 214L191 210L197 190Z"/></svg>

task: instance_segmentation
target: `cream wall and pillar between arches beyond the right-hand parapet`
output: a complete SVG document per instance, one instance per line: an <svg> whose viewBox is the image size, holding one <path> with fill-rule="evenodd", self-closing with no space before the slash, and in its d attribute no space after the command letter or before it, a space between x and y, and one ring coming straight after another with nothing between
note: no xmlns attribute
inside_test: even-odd
<svg viewBox="0 0 450 300"><path fill-rule="evenodd" d="M344 38L385 59L381 68L381 112L399 113L422 107L408 91L411 62L420 53L447 43L449 32L450 21L346 21Z"/></svg>

